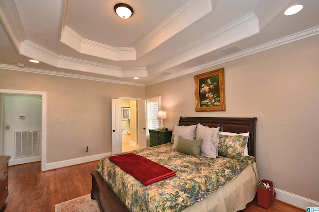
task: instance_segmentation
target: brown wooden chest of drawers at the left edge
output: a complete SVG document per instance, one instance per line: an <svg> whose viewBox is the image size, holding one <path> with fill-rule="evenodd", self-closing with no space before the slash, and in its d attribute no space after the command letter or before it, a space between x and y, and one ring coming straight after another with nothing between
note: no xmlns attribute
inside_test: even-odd
<svg viewBox="0 0 319 212"><path fill-rule="evenodd" d="M0 212L4 211L5 209L5 199L9 194L8 178L10 158L10 156L0 156Z"/></svg>

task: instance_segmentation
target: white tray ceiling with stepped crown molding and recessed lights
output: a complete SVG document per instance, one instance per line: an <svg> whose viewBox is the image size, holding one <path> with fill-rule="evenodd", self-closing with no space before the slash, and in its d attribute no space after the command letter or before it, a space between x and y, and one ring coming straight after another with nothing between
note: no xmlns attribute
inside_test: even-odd
<svg viewBox="0 0 319 212"><path fill-rule="evenodd" d="M146 86L319 34L318 11L319 0L1 0L0 68Z"/></svg>

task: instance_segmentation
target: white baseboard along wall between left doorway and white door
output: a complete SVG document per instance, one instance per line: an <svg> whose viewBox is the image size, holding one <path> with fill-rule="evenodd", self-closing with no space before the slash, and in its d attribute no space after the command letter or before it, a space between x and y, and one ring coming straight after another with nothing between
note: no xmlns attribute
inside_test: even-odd
<svg viewBox="0 0 319 212"><path fill-rule="evenodd" d="M97 155L90 155L90 156L85 156L81 158L73 158L65 161L57 161L57 162L52 162L52 163L47 163L46 164L46 170L50 169L57 169L61 167L66 167L66 166L72 166L76 164L82 164L86 162L91 162L91 161L97 161L100 160L101 158L105 156L109 156L112 153L102 153L102 154L97 154Z"/></svg>

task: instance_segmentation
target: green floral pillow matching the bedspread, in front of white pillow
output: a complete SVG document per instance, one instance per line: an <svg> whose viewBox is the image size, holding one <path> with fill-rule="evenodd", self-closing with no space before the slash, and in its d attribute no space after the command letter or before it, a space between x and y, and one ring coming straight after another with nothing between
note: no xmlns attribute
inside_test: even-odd
<svg viewBox="0 0 319 212"><path fill-rule="evenodd" d="M228 158L244 156L248 136L219 135L218 155Z"/></svg>

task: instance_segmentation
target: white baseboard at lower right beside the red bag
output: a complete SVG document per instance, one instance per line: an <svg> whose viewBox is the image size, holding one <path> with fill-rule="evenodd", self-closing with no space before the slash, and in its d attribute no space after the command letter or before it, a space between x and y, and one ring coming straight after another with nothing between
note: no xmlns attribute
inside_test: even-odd
<svg viewBox="0 0 319 212"><path fill-rule="evenodd" d="M276 189L276 199L285 203L297 206L298 208L305 209L307 207L319 207L319 202L295 195L280 189Z"/></svg>

